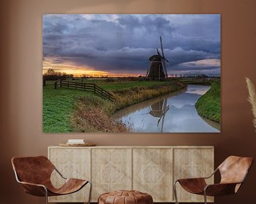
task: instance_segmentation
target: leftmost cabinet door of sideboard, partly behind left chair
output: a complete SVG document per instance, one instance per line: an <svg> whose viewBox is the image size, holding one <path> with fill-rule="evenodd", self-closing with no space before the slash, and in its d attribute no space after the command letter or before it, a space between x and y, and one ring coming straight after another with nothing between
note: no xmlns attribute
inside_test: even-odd
<svg viewBox="0 0 256 204"><path fill-rule="evenodd" d="M50 161L66 178L90 180L90 149L51 148L48 155ZM50 179L53 186L57 188L64 183L56 171L53 171ZM86 185L76 193L66 196L51 196L48 199L50 202L87 202L89 189L89 185Z"/></svg>

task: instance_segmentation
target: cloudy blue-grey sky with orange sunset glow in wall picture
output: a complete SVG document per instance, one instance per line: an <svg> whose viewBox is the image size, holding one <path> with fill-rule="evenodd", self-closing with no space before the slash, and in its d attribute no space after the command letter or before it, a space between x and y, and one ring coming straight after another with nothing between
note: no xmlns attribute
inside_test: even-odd
<svg viewBox="0 0 256 204"><path fill-rule="evenodd" d="M163 40L168 74L220 73L220 15L43 15L43 72L142 74Z"/></svg>

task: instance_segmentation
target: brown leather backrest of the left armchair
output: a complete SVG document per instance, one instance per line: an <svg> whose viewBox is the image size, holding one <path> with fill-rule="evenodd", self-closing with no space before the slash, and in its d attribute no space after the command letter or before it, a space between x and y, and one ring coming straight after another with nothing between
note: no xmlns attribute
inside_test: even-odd
<svg viewBox="0 0 256 204"><path fill-rule="evenodd" d="M11 164L21 181L28 183L48 183L54 170L47 157L14 157Z"/></svg>

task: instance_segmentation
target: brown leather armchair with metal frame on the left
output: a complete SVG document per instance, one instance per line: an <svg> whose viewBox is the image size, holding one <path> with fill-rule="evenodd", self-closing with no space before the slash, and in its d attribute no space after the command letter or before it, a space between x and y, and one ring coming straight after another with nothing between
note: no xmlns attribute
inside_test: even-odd
<svg viewBox="0 0 256 204"><path fill-rule="evenodd" d="M11 159L14 174L18 183L21 183L25 192L33 196L46 197L62 196L80 191L87 183L90 183L90 193L88 204L90 204L92 183L89 180L66 179L47 157L14 157ZM50 181L50 175L57 171L65 179L65 183L60 188L55 188Z"/></svg>

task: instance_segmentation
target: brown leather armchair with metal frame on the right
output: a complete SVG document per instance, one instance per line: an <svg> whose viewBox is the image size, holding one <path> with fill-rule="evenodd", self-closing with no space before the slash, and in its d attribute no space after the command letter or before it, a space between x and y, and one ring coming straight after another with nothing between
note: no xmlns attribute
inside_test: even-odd
<svg viewBox="0 0 256 204"><path fill-rule="evenodd" d="M252 157L228 157L213 172L213 174L215 174L217 171L220 171L220 183L210 185L206 183L206 179L209 179L213 174L203 178L178 179L174 182L174 197L176 203L178 203L176 193L177 182L189 193L203 195L206 204L206 196L224 196L237 193L238 189L245 181L250 166L252 166L252 162Z"/></svg>

